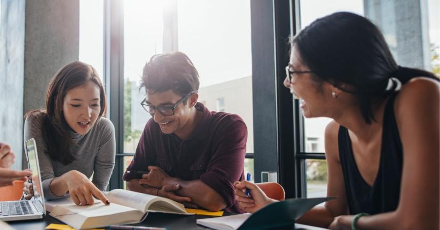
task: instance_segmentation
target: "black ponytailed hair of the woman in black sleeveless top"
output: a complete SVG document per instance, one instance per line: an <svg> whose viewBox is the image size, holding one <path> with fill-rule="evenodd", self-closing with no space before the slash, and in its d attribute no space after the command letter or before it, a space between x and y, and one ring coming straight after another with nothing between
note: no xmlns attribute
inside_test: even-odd
<svg viewBox="0 0 440 230"><path fill-rule="evenodd" d="M317 79L329 82L343 91L357 96L363 118L367 123L375 120L374 102L391 95L397 87L387 90L390 78L401 84L417 76L436 79L428 71L399 67L379 28L368 19L338 12L319 18L305 27L292 41ZM350 91L341 87L348 84Z"/></svg>

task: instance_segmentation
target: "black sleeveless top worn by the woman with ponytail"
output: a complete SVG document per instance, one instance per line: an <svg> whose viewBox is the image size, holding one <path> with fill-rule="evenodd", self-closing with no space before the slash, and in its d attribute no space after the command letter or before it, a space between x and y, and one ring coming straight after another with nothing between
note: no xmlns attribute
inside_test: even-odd
<svg viewBox="0 0 440 230"><path fill-rule="evenodd" d="M339 128L339 159L350 214L377 214L397 208L403 150L394 117L395 96L396 94L389 98L384 111L379 170L373 186L368 185L359 173L347 128Z"/></svg>

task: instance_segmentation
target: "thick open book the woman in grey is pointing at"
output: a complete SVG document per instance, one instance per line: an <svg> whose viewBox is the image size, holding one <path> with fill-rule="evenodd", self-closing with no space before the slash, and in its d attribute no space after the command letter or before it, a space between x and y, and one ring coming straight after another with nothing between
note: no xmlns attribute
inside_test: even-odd
<svg viewBox="0 0 440 230"><path fill-rule="evenodd" d="M193 215L185 210L184 205L168 198L123 189L114 189L105 195L110 205L95 199L93 205L78 206L67 198L46 202L46 209L49 215L76 229L139 223L148 212Z"/></svg>

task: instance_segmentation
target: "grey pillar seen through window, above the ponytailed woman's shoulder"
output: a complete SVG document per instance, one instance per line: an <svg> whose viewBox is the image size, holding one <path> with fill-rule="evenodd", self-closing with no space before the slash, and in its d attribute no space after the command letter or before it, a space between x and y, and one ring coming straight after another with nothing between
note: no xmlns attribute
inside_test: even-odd
<svg viewBox="0 0 440 230"><path fill-rule="evenodd" d="M431 69L425 0L371 0L363 4L365 17L379 26L397 64Z"/></svg>

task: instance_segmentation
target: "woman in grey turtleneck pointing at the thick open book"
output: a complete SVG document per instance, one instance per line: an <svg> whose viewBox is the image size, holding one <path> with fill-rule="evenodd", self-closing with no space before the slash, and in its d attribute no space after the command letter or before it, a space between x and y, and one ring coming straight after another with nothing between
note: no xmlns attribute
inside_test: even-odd
<svg viewBox="0 0 440 230"><path fill-rule="evenodd" d="M101 191L115 165L116 142L112 122L103 118L105 111L96 70L75 61L53 76L46 108L26 114L24 139L36 141L46 199L68 193L77 205L93 204L92 195L109 204ZM25 194L32 193L30 188L24 188Z"/></svg>

